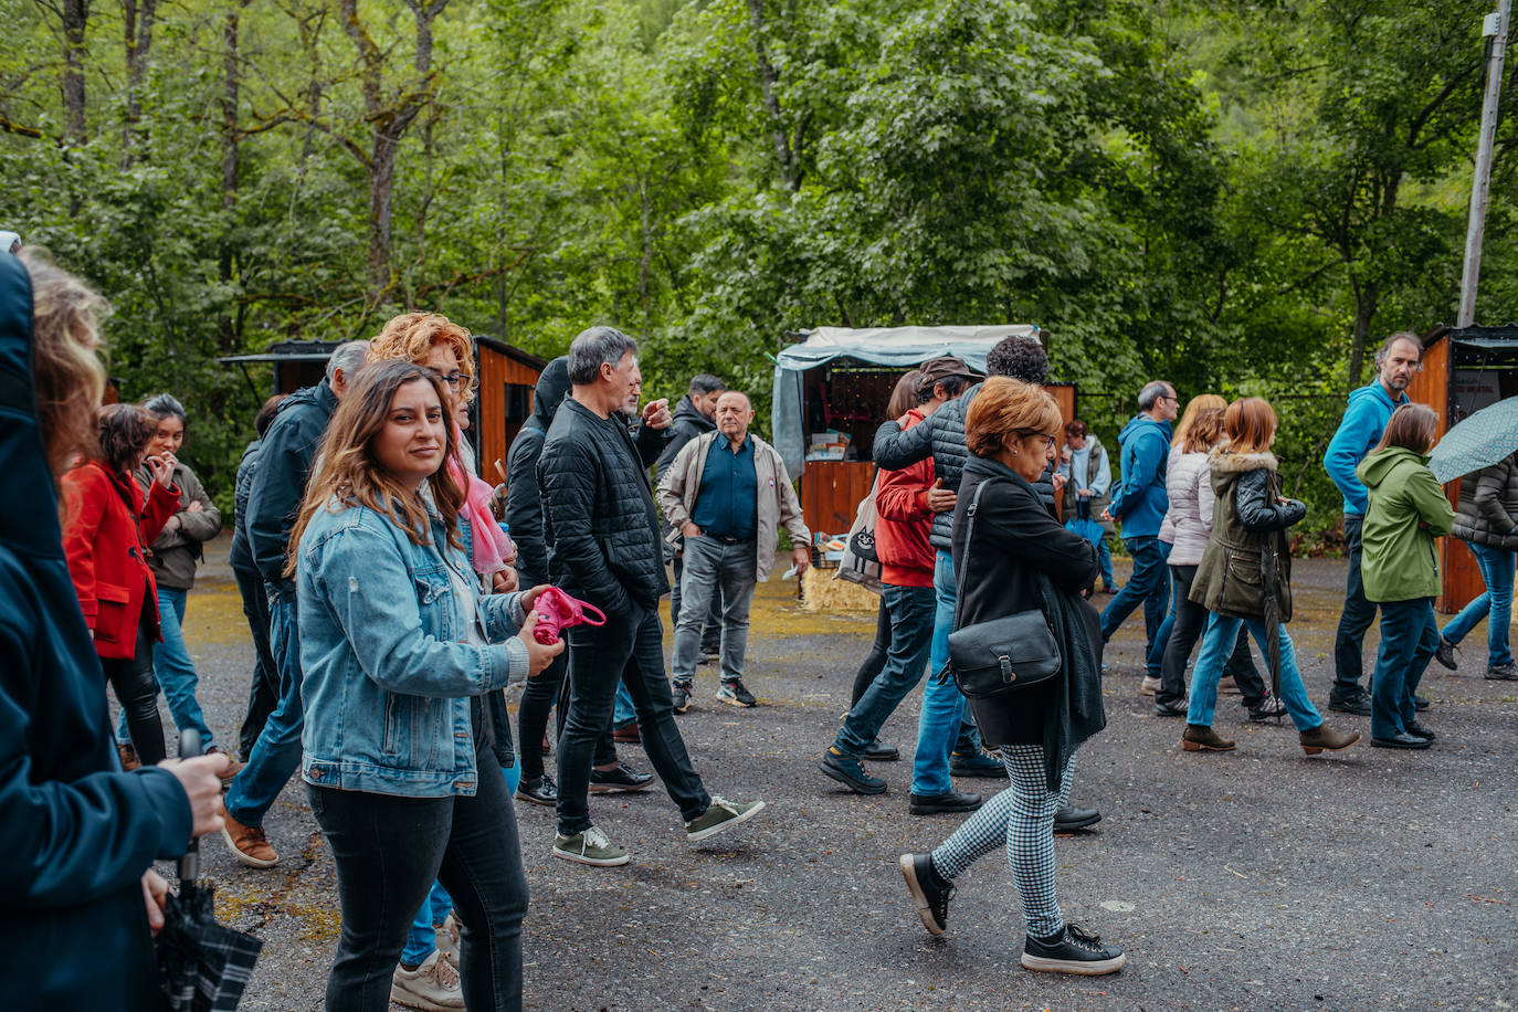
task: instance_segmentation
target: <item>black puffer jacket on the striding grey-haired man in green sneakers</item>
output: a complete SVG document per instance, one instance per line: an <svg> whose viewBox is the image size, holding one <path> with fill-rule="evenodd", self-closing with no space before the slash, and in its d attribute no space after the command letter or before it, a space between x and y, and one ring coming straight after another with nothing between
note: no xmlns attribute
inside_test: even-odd
<svg viewBox="0 0 1518 1012"><path fill-rule="evenodd" d="M550 574L609 616L656 608L669 592L648 484L663 435L644 428L635 443L618 416L566 398L537 460Z"/></svg>

